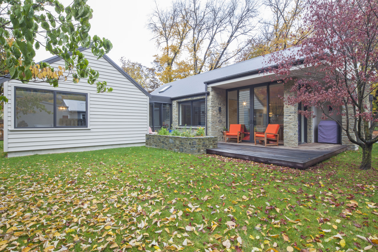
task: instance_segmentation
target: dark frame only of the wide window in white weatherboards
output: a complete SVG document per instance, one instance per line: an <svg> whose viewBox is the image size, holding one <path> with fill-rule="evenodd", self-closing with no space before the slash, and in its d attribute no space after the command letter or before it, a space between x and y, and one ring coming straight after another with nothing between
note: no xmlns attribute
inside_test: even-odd
<svg viewBox="0 0 378 252"><path fill-rule="evenodd" d="M32 89L32 90L41 90L41 91L48 91L48 92L53 92L54 95L54 120L53 120L53 127L17 127L16 124L16 107L17 107L17 100L16 100L16 90L17 88L19 89ZM85 126L57 126L56 125L56 93L72 93L72 94L77 94L77 95L85 95ZM65 91L65 90L49 90L49 89L39 89L39 88L31 88L31 87L20 87L20 86L14 86L14 111L13 111L13 116L14 116L14 129L67 129L67 128L88 128L88 93L79 93L79 92L71 92L71 91Z"/></svg>

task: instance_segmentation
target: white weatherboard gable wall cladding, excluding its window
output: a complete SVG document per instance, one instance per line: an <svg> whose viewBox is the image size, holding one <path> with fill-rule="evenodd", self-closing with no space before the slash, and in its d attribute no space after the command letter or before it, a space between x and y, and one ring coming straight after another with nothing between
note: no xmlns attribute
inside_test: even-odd
<svg viewBox="0 0 378 252"><path fill-rule="evenodd" d="M79 83L61 82L53 88L48 83L4 83L9 102L4 106L4 151L8 157L37 153L84 151L122 146L144 145L148 133L149 98L104 58L97 59L90 49L82 51L92 69L113 88L97 93L96 86L83 78ZM64 66L62 60L52 67ZM72 78L69 76L68 81ZM29 87L88 94L88 128L15 129L14 87Z"/></svg>

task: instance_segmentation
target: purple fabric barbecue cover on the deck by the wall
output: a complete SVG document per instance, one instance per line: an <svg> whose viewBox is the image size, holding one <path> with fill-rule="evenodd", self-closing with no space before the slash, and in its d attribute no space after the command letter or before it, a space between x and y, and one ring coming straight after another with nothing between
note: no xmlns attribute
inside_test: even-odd
<svg viewBox="0 0 378 252"><path fill-rule="evenodd" d="M319 143L340 143L340 126L336 121L320 121L318 125Z"/></svg>

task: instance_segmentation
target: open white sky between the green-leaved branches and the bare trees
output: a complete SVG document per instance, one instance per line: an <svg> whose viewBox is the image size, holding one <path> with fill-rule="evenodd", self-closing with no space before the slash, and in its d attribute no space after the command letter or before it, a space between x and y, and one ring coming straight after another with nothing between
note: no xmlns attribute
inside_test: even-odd
<svg viewBox="0 0 378 252"><path fill-rule="evenodd" d="M157 0L161 7L169 6L172 0ZM64 5L71 1L62 0ZM157 53L155 40L147 29L148 15L155 6L153 0L88 0L93 9L90 35L109 39L113 49L107 55L118 65L124 56L151 66L153 55ZM36 59L43 60L52 55L45 50L37 51Z"/></svg>

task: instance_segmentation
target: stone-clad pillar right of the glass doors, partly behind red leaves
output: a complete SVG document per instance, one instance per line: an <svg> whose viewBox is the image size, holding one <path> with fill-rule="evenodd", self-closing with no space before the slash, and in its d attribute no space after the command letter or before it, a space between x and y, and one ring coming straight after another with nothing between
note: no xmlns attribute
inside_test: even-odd
<svg viewBox="0 0 378 252"><path fill-rule="evenodd" d="M294 85L294 80L288 81L283 85L283 96L286 99L289 95L295 93L290 92ZM298 146L298 106L283 105L283 145L295 147Z"/></svg>

